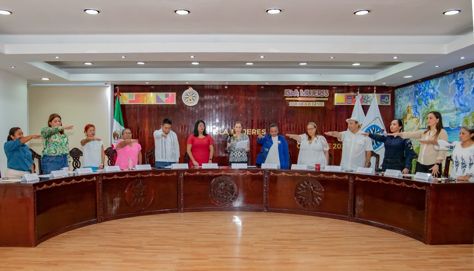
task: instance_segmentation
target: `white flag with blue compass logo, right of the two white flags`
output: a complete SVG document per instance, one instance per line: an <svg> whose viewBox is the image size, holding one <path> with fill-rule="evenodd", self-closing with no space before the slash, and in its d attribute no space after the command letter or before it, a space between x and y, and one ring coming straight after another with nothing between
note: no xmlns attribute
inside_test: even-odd
<svg viewBox="0 0 474 271"><path fill-rule="evenodd" d="M383 125L382 115L380 115L379 105L377 103L377 96L373 96L372 103L370 104L369 110L365 115L364 123L362 124L361 132L365 133L374 133L387 136L387 130L385 130L385 125ZM372 147L374 147L374 152L380 155L379 166L382 166L385 146L383 142L372 140ZM375 158L370 159L372 168L375 168ZM375 168L376 169L376 168Z"/></svg>

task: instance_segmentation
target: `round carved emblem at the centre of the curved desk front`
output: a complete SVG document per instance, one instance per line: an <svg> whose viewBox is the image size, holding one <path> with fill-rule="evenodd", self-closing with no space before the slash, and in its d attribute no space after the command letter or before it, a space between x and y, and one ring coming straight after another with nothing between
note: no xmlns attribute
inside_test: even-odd
<svg viewBox="0 0 474 271"><path fill-rule="evenodd" d="M228 176L220 176L210 183L210 198L220 206L228 206L236 201L237 184Z"/></svg>

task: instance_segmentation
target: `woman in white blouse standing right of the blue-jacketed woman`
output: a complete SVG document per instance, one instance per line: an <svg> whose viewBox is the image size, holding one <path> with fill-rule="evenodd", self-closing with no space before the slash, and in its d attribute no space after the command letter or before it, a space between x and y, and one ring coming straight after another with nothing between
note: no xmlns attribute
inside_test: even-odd
<svg viewBox="0 0 474 271"><path fill-rule="evenodd" d="M329 163L328 141L319 134L318 126L314 122L308 123L306 133L301 135L286 134L300 144L298 164L314 167L321 165L321 170Z"/></svg>

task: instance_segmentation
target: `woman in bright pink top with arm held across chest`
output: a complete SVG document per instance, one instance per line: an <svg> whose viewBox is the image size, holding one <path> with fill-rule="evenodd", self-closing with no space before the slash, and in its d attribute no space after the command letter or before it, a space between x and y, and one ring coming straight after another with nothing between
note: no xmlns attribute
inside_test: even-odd
<svg viewBox="0 0 474 271"><path fill-rule="evenodd" d="M132 139L132 131L128 128L122 130L122 138L117 140L114 149L117 150L115 166L128 168L128 159L133 159L133 167L142 164L142 146L137 139Z"/></svg>

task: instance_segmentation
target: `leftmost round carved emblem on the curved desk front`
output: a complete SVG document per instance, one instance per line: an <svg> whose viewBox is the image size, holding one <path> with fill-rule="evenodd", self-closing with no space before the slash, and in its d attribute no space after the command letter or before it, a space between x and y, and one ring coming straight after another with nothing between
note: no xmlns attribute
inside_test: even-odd
<svg viewBox="0 0 474 271"><path fill-rule="evenodd" d="M144 210L153 201L153 187L146 184L144 179L130 182L125 189L125 200L128 206L135 210Z"/></svg>

